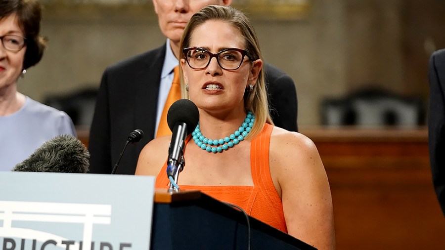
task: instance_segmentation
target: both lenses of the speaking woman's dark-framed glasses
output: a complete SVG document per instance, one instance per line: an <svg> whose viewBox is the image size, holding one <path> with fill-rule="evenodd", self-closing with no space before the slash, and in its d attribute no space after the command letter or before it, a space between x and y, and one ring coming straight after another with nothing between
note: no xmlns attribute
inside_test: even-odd
<svg viewBox="0 0 445 250"><path fill-rule="evenodd" d="M217 54L219 65L226 70L237 69L243 60L243 54L236 50L220 51ZM206 50L192 49L187 52L187 60L190 67L194 69L203 69L209 65L211 53Z"/></svg>

